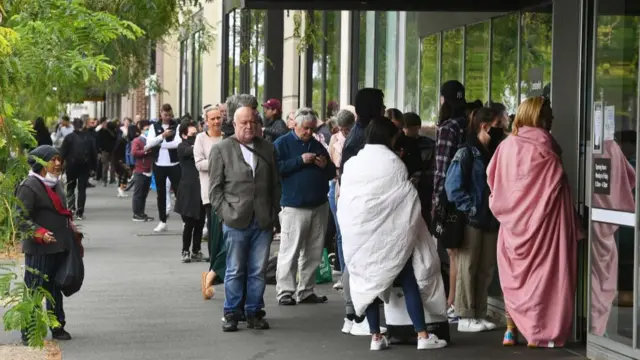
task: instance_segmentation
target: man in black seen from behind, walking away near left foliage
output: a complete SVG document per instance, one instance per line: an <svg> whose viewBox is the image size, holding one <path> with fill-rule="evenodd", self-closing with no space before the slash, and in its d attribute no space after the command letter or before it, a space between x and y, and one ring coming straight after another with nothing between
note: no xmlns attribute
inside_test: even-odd
<svg viewBox="0 0 640 360"><path fill-rule="evenodd" d="M82 119L74 119L73 128L62 142L60 156L64 159L67 174L67 207L75 213L77 220L83 220L87 185L91 171L96 167L98 151L91 135L84 130Z"/></svg>

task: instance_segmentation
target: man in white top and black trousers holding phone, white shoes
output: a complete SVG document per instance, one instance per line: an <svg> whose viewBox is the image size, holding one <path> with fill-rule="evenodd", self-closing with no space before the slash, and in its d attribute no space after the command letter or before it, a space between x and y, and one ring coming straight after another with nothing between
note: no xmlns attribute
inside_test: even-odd
<svg viewBox="0 0 640 360"><path fill-rule="evenodd" d="M182 170L178 162L178 145L182 142L176 133L179 131L178 123L173 119L171 105L162 105L160 122L154 123L149 129L145 150L153 150L155 162L153 173L156 180L156 192L158 195L158 217L160 223L153 232L167 231L167 179L171 182L171 188L178 194L178 185Z"/></svg>

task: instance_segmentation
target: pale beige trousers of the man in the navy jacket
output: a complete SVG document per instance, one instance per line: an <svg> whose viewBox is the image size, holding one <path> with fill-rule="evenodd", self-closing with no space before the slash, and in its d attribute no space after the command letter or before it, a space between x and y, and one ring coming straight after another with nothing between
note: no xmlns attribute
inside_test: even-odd
<svg viewBox="0 0 640 360"><path fill-rule="evenodd" d="M313 294L316 269L322 259L329 203L315 208L284 207L280 212L280 250L276 269L278 299L285 295L298 301ZM296 285L296 274L300 277Z"/></svg>

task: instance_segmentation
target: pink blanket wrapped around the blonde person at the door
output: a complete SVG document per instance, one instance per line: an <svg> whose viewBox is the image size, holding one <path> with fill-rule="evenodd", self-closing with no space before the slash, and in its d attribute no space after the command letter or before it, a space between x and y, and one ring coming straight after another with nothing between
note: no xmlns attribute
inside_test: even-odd
<svg viewBox="0 0 640 360"><path fill-rule="evenodd" d="M557 148L547 131L524 127L487 168L506 310L520 334L543 347L564 346L571 335L582 235Z"/></svg>

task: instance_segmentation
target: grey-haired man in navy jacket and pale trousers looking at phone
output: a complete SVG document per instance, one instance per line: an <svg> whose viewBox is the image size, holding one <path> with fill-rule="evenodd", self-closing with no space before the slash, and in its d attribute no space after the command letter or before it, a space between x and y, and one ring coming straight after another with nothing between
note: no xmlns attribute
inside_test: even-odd
<svg viewBox="0 0 640 360"><path fill-rule="evenodd" d="M282 178L282 232L276 271L280 305L327 301L326 296L317 296L314 288L329 218L329 180L335 177L336 168L326 148L313 137L316 112L302 108L295 121L294 130L274 143ZM297 285L296 269L300 271Z"/></svg>

